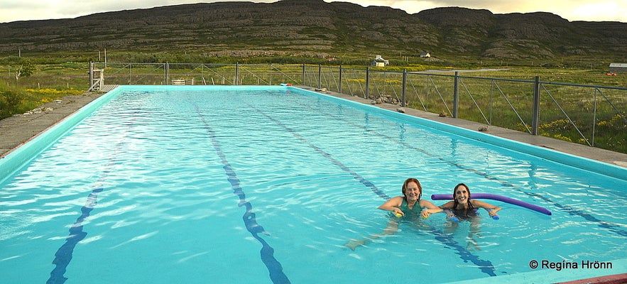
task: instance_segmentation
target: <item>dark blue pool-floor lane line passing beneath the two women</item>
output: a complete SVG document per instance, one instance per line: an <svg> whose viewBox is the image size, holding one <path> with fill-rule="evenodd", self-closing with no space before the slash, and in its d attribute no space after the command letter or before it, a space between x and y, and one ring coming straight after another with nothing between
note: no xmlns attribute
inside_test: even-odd
<svg viewBox="0 0 627 284"><path fill-rule="evenodd" d="M370 190L372 192L374 192L376 195L378 195L379 197L381 197L381 198L383 198L385 200L389 200L390 199L390 197L388 197L388 195L386 195L383 191L379 190L378 187L376 187L376 185L374 185L369 180L366 180L366 178L362 177L358 173L355 173L354 170L351 170L349 167L344 165L339 160L336 160L335 158L333 158L333 156L330 153L327 153L327 152L323 151L322 149L320 149L319 147L313 145L312 143L307 141L307 139L302 138L302 136L300 136L300 134L296 133L296 131L294 131L293 129L291 129L288 126L285 126L285 124L283 124L282 122L274 119L273 117L268 116L268 114L265 114L260 109L257 109L256 107L253 107L253 106L250 106L250 105L249 105L249 107L255 109L260 114L262 114L263 116L266 116L266 118L270 119L271 121L273 121L278 126L281 126L286 131L292 133L292 135L294 137L298 138L298 140L300 140L302 143L306 143L308 146L312 147L315 151L317 151L318 153L321 153L323 156L325 156L325 158L329 159L334 165L337 165L340 169L342 169L342 170L346 171L347 173L349 173L350 175L352 175L353 178L355 178L355 180L358 180L359 182L361 182L361 184L365 185L366 187L369 187ZM494 271L496 271L496 269L494 268L494 265L492 265L492 263L490 261L484 261L481 258L479 258L479 256L475 256L470 251L468 251L466 248L464 248L463 246L460 246L459 244L457 244L457 241L455 241L452 238L452 236L449 236L449 235L443 233L442 231L433 228L432 226L429 226L429 228L430 228L431 233L435 234L435 239L437 241L440 241L445 246L447 246L447 247L449 247L451 249L456 250L457 254L459 255L460 258L462 258L462 260L464 262L470 261L471 263L474 263L477 267L479 267L481 272L486 273L486 274L488 274L490 276L496 276L496 273L494 273Z"/></svg>

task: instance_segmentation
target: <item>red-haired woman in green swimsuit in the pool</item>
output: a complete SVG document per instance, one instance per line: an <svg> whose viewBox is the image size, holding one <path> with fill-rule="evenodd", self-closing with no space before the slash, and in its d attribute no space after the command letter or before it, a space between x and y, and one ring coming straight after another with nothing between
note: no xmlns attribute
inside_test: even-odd
<svg viewBox="0 0 627 284"><path fill-rule="evenodd" d="M388 227L381 234L372 234L366 239L351 240L344 246L348 246L353 251L357 246L363 246L367 241L378 239L381 236L395 234L398 231L398 219L420 219L429 217L430 214L442 212L440 207L427 201L421 200L422 185L415 178L408 178L403 182L401 189L403 196L393 197L381 204L378 209L392 212Z"/></svg>

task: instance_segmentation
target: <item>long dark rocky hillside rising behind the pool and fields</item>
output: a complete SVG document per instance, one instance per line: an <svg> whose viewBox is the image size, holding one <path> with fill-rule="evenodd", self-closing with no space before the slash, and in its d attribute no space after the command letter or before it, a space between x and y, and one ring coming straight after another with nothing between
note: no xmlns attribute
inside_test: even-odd
<svg viewBox="0 0 627 284"><path fill-rule="evenodd" d="M627 54L627 23L447 7L408 14L345 2L219 2L0 23L0 55L94 50L209 56L557 58Z"/></svg>

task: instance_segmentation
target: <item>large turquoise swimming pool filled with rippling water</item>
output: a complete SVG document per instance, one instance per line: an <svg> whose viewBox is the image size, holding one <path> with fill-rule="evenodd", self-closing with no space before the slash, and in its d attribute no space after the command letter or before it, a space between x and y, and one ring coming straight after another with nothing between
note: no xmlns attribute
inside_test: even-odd
<svg viewBox="0 0 627 284"><path fill-rule="evenodd" d="M74 120L0 161L0 283L542 283L627 271L625 179L461 129L293 87L123 86ZM435 214L344 246L385 228L376 207L408 177L425 199L465 182L552 216L489 201L501 219L472 236Z"/></svg>

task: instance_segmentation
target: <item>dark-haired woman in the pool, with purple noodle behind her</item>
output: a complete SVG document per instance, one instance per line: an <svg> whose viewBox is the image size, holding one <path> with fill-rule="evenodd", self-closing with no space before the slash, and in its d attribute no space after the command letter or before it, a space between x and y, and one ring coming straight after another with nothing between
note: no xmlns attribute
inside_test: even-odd
<svg viewBox="0 0 627 284"><path fill-rule="evenodd" d="M481 250L479 248L479 244L477 243L475 236L479 236L479 230L481 229L481 225L479 224L479 214L477 214L477 210L479 208L486 209L490 217L498 217L496 212L501 210L501 207L494 206L492 204L482 202L479 200L471 200L470 199L470 190L467 185L463 183L459 183L455 185L453 189L453 200L449 201L440 208L444 209L444 211L449 216L449 219L455 220L455 222L451 222L447 227L447 233L454 232L459 226L459 222L467 220L470 222L470 229L468 232L468 248Z"/></svg>

